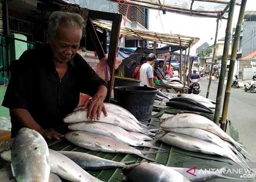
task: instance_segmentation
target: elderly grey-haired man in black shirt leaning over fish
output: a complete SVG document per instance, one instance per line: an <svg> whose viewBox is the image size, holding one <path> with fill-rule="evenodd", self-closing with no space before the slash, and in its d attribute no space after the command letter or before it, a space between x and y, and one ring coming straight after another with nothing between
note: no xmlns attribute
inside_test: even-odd
<svg viewBox="0 0 256 182"><path fill-rule="evenodd" d="M17 61L19 69L12 74L3 106L10 108L11 137L21 127L38 131L48 139L60 139L53 128L63 124L63 118L79 103L80 92L93 98L87 118L107 115L103 100L106 83L76 52L83 35L83 18L74 13L53 12L49 18L48 44L25 51Z"/></svg>

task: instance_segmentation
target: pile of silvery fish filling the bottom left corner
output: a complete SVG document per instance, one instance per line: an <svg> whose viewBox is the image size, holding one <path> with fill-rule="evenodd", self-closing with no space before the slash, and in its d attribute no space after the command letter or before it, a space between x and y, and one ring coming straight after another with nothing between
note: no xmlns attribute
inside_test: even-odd
<svg viewBox="0 0 256 182"><path fill-rule="evenodd" d="M1 158L11 162L10 167L0 170L1 181L61 182L61 178L74 182L100 182L84 169L99 170L126 167L127 163L103 159L87 153L74 151L54 151L35 130L22 128L10 142L11 150L3 151ZM83 169L84 168L84 169Z"/></svg>

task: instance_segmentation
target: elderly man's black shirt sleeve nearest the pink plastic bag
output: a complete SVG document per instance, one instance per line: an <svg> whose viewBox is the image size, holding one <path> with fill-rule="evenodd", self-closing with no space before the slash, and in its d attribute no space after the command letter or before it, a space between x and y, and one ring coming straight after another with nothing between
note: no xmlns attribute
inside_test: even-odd
<svg viewBox="0 0 256 182"><path fill-rule="evenodd" d="M103 85L107 88L107 84L102 80L97 73L90 67L90 65L80 55L76 55L76 61L80 72L81 88L80 92L90 96L94 96L99 88Z"/></svg>

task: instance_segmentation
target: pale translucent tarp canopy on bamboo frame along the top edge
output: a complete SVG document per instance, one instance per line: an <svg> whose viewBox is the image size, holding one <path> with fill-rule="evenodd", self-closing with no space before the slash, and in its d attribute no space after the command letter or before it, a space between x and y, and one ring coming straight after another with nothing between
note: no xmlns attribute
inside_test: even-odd
<svg viewBox="0 0 256 182"><path fill-rule="evenodd" d="M144 8L163 10L172 13L197 17L228 16L227 5L230 0L108 0L120 4L136 5ZM236 0L241 5L241 0Z"/></svg>

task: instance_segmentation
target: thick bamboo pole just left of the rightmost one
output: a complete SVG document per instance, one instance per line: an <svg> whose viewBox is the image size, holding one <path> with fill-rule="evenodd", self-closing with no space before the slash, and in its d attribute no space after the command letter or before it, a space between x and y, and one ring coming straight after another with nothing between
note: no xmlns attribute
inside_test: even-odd
<svg viewBox="0 0 256 182"><path fill-rule="evenodd" d="M223 51L222 62L221 62L221 74L219 77L219 85L218 85L218 91L217 91L217 97L216 97L216 107L215 107L215 114L214 114L214 123L217 125L219 125L219 116L221 113L221 100L222 100L223 84L224 84L224 80L225 80L227 59L229 56L230 34L231 34L231 28L232 28L235 3L236 3L236 0L230 0L229 17L227 20L226 37L225 37L224 51Z"/></svg>

